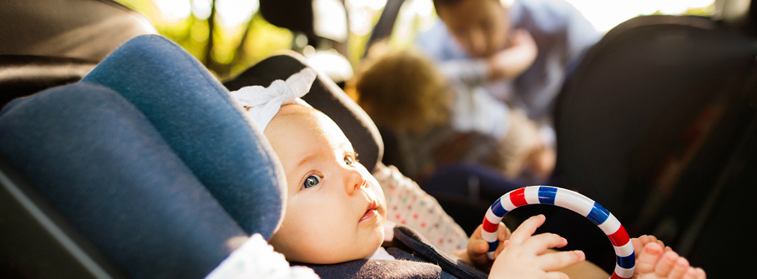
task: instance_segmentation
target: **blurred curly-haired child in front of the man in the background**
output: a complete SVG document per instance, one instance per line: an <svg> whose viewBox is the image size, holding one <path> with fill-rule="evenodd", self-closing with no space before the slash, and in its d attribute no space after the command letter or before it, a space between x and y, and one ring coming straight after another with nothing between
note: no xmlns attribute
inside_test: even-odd
<svg viewBox="0 0 757 279"><path fill-rule="evenodd" d="M555 152L522 110L509 109L484 87L451 81L418 51L378 51L372 48L357 75L355 95L400 142L407 176L422 180L441 164L459 162L485 164L509 179L538 180L534 183L550 175ZM460 147L455 140L460 133L478 136ZM463 151L444 161L436 154L450 149Z"/></svg>

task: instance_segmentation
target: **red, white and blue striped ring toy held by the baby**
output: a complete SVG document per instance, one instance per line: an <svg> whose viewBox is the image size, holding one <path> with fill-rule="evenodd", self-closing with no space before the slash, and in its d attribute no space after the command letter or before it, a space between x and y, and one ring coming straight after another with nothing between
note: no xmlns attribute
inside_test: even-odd
<svg viewBox="0 0 757 279"><path fill-rule="evenodd" d="M628 232L620 221L590 198L568 189L552 186L528 186L516 189L502 195L489 207L481 230L481 237L489 243L487 252L489 259L494 259L494 251L499 245L497 228L502 218L509 211L528 204L553 204L586 216L604 231L612 242L612 246L615 247L615 271L612 272L610 279L631 278L634 275L636 265L634 244L631 244L631 238L628 237Z"/></svg>

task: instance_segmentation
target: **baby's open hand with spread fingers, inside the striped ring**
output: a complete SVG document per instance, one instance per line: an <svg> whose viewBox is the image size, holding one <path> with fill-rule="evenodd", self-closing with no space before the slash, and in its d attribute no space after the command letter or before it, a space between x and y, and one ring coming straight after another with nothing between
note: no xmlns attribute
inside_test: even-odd
<svg viewBox="0 0 757 279"><path fill-rule="evenodd" d="M491 267L489 278L568 278L557 270L584 261L582 251L544 253L549 248L565 247L559 235L533 235L544 224L544 215L532 216L512 232L506 247Z"/></svg>

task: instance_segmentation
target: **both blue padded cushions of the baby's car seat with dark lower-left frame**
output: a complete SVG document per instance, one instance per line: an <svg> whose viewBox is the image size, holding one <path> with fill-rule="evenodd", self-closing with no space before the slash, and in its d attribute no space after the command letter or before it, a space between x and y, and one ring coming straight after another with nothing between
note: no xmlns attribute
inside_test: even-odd
<svg viewBox="0 0 757 279"><path fill-rule="evenodd" d="M3 267L204 277L248 235L269 238L284 182L241 115L197 60L155 35L124 44L83 81L9 103L0 152L21 181L2 183Z"/></svg>

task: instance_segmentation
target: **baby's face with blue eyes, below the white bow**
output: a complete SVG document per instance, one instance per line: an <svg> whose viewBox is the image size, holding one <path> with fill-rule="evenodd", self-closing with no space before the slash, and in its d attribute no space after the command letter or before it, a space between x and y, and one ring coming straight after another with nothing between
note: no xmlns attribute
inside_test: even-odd
<svg viewBox="0 0 757 279"><path fill-rule="evenodd" d="M288 187L273 247L289 261L315 264L372 255L384 239L384 194L334 121L315 109L286 105L264 133Z"/></svg>

